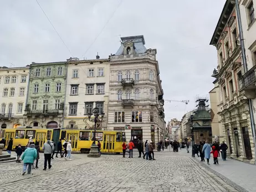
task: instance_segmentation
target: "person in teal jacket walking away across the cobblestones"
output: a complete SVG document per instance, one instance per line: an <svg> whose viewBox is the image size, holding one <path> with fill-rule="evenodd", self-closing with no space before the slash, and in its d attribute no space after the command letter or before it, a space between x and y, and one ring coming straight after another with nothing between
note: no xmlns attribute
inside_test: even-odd
<svg viewBox="0 0 256 192"><path fill-rule="evenodd" d="M25 149L21 159L23 160L23 173L25 175L28 167L28 174L31 173L32 164L34 160L37 159L37 150L35 149L35 144L30 144L30 146Z"/></svg>

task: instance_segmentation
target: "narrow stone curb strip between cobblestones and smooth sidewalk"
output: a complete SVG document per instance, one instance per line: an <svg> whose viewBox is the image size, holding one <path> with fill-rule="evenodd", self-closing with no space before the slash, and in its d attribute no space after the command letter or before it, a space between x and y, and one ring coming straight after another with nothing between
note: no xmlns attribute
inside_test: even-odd
<svg viewBox="0 0 256 192"><path fill-rule="evenodd" d="M219 185L221 185L224 189L226 189L229 192L249 192L246 189L242 188L242 186L239 186L235 184L232 180L226 178L224 175L216 172L211 167L208 167L206 164L199 162L198 159L194 159L193 157L190 157L194 162L199 163L199 165L202 165L198 167L202 169L204 172L206 172L212 179L214 179ZM226 180L226 181L225 181Z"/></svg>

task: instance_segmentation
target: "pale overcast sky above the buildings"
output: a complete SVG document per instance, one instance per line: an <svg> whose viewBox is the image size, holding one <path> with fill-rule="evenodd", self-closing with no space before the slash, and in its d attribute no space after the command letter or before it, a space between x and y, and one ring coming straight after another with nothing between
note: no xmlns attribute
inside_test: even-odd
<svg viewBox="0 0 256 192"><path fill-rule="evenodd" d="M38 0L74 57L115 54L122 37L144 35L157 49L166 122L181 119L213 89L216 48L209 45L225 0ZM37 1L2 1L0 66L65 61L72 56ZM188 105L167 100L190 100Z"/></svg>

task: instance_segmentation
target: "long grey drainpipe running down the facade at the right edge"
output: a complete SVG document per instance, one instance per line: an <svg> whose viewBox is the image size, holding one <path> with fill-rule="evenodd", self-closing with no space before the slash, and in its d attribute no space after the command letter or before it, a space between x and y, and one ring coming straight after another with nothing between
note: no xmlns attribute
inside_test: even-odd
<svg viewBox="0 0 256 192"><path fill-rule="evenodd" d="M242 29L242 21L241 21L241 15L240 15L240 9L239 9L239 2L238 0L235 0L235 7L237 9L237 20L238 20L238 28L239 28L239 39L242 49L242 59L243 59L243 67L244 67L244 73L248 71L247 68L247 62L246 62L246 55L245 55L245 48L244 48L244 37L243 37L243 29ZM254 123L254 117L253 117L253 101L249 98L249 112L250 112L250 124L252 127L253 132L253 144L254 144L254 164L256 164L256 147L255 147L255 123Z"/></svg>

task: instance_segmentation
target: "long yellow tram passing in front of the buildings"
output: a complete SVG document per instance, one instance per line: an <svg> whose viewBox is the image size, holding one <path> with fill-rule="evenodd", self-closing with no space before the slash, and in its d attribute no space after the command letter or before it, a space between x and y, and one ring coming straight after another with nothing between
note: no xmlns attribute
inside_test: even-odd
<svg viewBox="0 0 256 192"><path fill-rule="evenodd" d="M40 149L43 144L50 138L55 143L62 139L71 140L73 152L86 153L90 151L91 144L94 140L94 130L91 129L36 129L36 128L11 128L3 129L2 137L6 139L6 148L10 138L13 138L13 149L19 144L25 147L30 137L34 142L38 141ZM101 142L102 153L121 153L122 142L126 142L125 132L121 131L96 131L96 141ZM57 149L57 145L56 145Z"/></svg>

